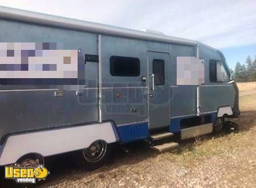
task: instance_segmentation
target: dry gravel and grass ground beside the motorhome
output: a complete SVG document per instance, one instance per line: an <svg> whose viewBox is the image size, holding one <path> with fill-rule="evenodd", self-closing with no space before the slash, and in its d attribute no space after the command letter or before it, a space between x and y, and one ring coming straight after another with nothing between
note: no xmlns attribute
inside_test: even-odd
<svg viewBox="0 0 256 188"><path fill-rule="evenodd" d="M133 143L127 146L130 154L116 151L111 163L94 171L75 164L72 153L59 155L48 159L50 175L37 185L256 187L256 94L240 96L240 109L241 116L234 119L240 124L239 133L223 131L201 136L163 153L153 151L143 142Z"/></svg>

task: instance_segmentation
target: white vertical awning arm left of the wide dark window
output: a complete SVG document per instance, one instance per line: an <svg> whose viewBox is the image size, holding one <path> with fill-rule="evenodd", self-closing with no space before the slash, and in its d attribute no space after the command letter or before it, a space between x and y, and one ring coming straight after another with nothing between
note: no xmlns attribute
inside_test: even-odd
<svg viewBox="0 0 256 188"><path fill-rule="evenodd" d="M101 57L101 35L98 36L99 50L99 122L102 123L102 57Z"/></svg>

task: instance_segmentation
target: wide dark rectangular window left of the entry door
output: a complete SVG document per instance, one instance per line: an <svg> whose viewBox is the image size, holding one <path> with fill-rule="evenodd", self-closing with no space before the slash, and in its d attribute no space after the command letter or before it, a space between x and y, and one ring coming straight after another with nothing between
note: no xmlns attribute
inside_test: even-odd
<svg viewBox="0 0 256 188"><path fill-rule="evenodd" d="M112 76L139 76L139 59L134 57L111 56L110 74Z"/></svg>

